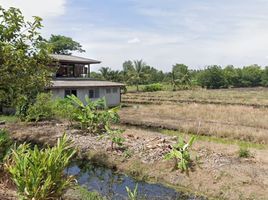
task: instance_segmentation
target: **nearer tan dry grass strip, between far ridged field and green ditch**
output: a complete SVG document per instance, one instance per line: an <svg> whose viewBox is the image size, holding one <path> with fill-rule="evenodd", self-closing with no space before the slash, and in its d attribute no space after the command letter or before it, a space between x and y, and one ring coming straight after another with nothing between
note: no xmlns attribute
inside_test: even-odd
<svg viewBox="0 0 268 200"><path fill-rule="evenodd" d="M268 109L204 104L123 108L123 122L268 144Z"/></svg>

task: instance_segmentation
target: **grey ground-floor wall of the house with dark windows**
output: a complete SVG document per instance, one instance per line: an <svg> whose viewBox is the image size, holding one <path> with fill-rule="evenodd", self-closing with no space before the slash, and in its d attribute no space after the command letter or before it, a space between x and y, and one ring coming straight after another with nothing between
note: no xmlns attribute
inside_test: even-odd
<svg viewBox="0 0 268 200"><path fill-rule="evenodd" d="M84 103L88 96L92 101L105 97L107 106L118 106L121 102L120 87L88 87L88 88L52 88L53 98L64 98L68 92L75 92L76 96Z"/></svg>

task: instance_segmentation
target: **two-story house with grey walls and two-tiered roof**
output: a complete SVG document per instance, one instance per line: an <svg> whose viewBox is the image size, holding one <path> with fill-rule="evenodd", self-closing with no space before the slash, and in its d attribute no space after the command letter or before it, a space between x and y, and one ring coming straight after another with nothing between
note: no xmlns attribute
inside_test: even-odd
<svg viewBox="0 0 268 200"><path fill-rule="evenodd" d="M100 61L71 55L51 56L58 65L52 86L48 88L54 98L74 94L83 102L85 96L88 96L92 100L105 97L107 106L120 104L121 88L124 84L90 78L90 65L99 64Z"/></svg>

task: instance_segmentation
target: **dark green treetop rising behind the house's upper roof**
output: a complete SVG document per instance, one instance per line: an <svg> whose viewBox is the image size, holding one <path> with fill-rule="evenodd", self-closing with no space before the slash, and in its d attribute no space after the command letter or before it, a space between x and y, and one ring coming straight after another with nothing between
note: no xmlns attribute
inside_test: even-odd
<svg viewBox="0 0 268 200"><path fill-rule="evenodd" d="M55 54L71 55L72 51L85 52L81 44L63 35L51 35L48 42L51 46L52 53Z"/></svg>

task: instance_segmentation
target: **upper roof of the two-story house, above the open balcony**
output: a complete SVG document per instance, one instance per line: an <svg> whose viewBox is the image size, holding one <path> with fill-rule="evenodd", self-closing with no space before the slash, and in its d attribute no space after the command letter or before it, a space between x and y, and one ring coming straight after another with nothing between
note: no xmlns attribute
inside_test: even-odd
<svg viewBox="0 0 268 200"><path fill-rule="evenodd" d="M79 64L99 64L101 61L93 60L89 58L82 58L72 55L50 54L52 58L59 62L79 63Z"/></svg>

